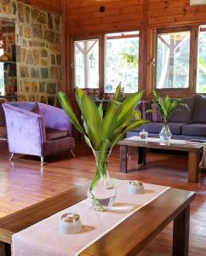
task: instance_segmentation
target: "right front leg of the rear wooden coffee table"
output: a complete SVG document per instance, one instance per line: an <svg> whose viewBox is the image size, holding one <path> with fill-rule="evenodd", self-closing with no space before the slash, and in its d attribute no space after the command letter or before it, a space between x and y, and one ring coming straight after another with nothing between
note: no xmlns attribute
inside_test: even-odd
<svg viewBox="0 0 206 256"><path fill-rule="evenodd" d="M188 156L188 182L197 183L199 174L199 153L190 151Z"/></svg>

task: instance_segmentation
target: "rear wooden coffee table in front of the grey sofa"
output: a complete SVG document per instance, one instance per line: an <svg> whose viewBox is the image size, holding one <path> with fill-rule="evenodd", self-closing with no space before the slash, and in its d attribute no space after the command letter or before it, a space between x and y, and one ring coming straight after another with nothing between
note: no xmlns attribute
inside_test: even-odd
<svg viewBox="0 0 206 256"><path fill-rule="evenodd" d="M123 139L118 143L120 145L120 172L128 172L129 151L136 148L138 151L138 164L146 165L147 148L157 148L163 150L176 150L188 152L188 182L197 183L199 179L199 160L200 154L203 152L203 144L201 143L159 143L146 141L132 141L132 137Z"/></svg>

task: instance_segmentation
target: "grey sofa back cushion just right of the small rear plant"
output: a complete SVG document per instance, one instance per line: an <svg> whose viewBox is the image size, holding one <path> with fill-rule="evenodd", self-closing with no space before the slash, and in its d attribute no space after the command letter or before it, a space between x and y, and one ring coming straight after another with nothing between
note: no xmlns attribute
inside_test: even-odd
<svg viewBox="0 0 206 256"><path fill-rule="evenodd" d="M195 102L195 96L184 98L182 100L182 103L185 103L187 105L186 108L184 106L178 106L174 113L171 114L169 121L170 122L179 122L179 123L186 123L189 124L192 121L192 112L194 108L194 102Z"/></svg>

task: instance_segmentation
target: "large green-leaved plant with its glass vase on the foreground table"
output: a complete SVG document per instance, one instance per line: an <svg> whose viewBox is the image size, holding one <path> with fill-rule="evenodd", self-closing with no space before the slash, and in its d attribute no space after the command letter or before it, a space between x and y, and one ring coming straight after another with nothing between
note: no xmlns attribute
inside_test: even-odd
<svg viewBox="0 0 206 256"><path fill-rule="evenodd" d="M75 96L82 113L83 125L77 119L71 102L62 91L58 98L77 131L83 134L85 142L92 149L96 162L96 173L88 190L88 198L98 211L112 207L116 191L107 172L107 162L112 148L121 140L127 131L134 130L148 122L141 119L140 111L135 110L143 91L131 94L120 102L121 85L117 86L114 100L107 104L103 114L102 103L99 107L83 90L76 89Z"/></svg>

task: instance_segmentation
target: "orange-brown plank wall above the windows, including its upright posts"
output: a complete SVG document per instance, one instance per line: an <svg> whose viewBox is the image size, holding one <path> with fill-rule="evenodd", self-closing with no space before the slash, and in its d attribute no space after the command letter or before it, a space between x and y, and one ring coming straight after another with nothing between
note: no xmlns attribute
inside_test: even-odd
<svg viewBox="0 0 206 256"><path fill-rule="evenodd" d="M147 97L152 96L152 28L206 24L206 5L190 6L190 0L65 0L64 13L66 84L72 73L72 36L140 29L140 88ZM67 91L73 91L72 84Z"/></svg>

